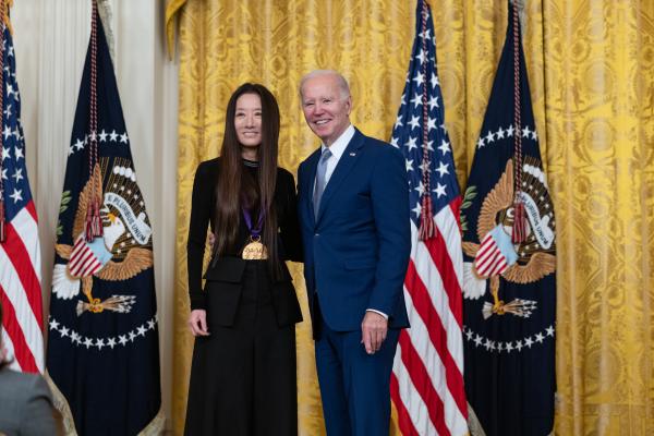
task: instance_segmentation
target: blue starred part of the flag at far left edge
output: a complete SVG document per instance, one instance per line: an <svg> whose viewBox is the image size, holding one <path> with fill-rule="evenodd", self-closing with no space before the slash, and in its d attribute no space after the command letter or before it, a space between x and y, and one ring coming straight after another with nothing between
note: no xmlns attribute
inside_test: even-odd
<svg viewBox="0 0 654 436"><path fill-rule="evenodd" d="M13 39L2 25L4 94L2 96L2 178L4 213L7 222L16 216L32 199L27 168L25 166L25 137L21 125L21 97L16 83L16 61Z"/></svg>

